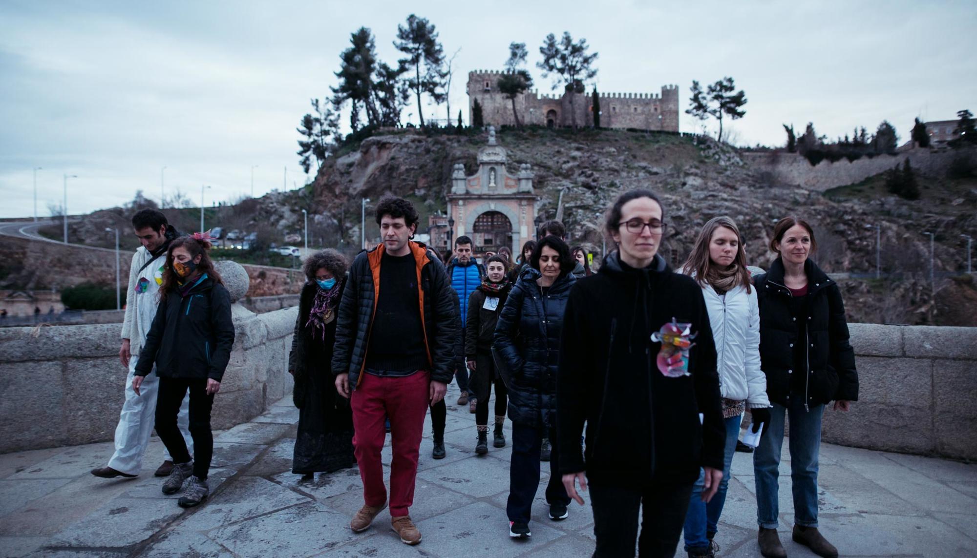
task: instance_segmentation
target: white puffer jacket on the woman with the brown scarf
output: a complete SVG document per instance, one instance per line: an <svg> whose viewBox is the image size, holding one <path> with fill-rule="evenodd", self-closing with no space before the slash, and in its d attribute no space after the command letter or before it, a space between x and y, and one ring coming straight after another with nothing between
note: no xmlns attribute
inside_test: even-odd
<svg viewBox="0 0 977 558"><path fill-rule="evenodd" d="M711 286L702 288L716 342L719 389L722 396L746 401L749 409L770 407L767 378L760 369L760 309L756 290L743 286L720 297Z"/></svg>

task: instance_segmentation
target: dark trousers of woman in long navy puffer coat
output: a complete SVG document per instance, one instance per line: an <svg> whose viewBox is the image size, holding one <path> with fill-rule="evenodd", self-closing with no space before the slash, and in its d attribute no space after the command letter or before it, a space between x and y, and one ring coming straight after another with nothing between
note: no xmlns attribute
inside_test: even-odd
<svg viewBox="0 0 977 558"><path fill-rule="evenodd" d="M556 440L556 428L533 428L513 423L512 460L509 464L509 500L505 512L509 521L529 523L532 512L532 498L539 488L539 452L543 437ZM691 488L690 488L691 490ZM550 479L546 485L546 501L552 505L570 504L567 489L560 475L560 453L554 445L550 454ZM682 518L685 519L683 512Z"/></svg>

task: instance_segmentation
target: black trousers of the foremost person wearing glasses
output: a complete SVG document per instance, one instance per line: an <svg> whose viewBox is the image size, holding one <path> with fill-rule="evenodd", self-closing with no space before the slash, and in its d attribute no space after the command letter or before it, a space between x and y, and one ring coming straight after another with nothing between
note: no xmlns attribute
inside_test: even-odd
<svg viewBox="0 0 977 558"><path fill-rule="evenodd" d="M594 558L634 556L635 539L641 558L675 556L685 512L689 509L692 483L656 482L622 487L588 480L597 537ZM638 538L639 508L641 538Z"/></svg>

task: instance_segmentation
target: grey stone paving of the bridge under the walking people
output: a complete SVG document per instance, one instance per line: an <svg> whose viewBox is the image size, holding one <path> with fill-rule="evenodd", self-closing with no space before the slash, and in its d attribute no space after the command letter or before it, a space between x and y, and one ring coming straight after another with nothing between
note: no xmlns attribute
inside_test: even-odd
<svg viewBox="0 0 977 558"><path fill-rule="evenodd" d="M451 385L448 401L457 390ZM353 534L361 505L357 469L302 480L290 472L297 410L290 398L251 422L216 434L211 497L191 510L163 496L152 477L162 447L154 440L135 479L104 480L111 443L0 456L0 556L533 556L593 551L589 506L566 521L546 517L537 493L532 538L508 537L511 448L476 457L474 415L448 405L447 458L431 455L430 419L421 445L411 515L423 534L408 547L384 511ZM509 428L506 428L509 437ZM389 444L389 442L388 442ZM784 451L787 458L788 453ZM390 462L390 448L384 451ZM545 463L544 463L545 465ZM544 466L545 469L545 466ZM789 478L784 462L782 479ZM716 540L720 556L758 556L751 456L737 454ZM545 487L548 475L543 473ZM844 556L977 556L977 466L832 446L821 451L821 526ZM586 497L585 497L586 498ZM814 556L790 541L790 490L782 487L781 532L789 556ZM679 556L685 553L679 549Z"/></svg>

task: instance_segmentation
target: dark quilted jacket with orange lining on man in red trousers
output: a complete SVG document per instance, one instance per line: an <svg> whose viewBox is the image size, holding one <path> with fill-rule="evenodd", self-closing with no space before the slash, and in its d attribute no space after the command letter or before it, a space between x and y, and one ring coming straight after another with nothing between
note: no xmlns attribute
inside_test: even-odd
<svg viewBox="0 0 977 558"><path fill-rule="evenodd" d="M454 343L458 335L458 312L451 299L451 284L445 266L428 253L424 244L410 241L410 250L416 261L417 299L431 379L448 383L453 378ZM381 244L357 255L339 303L332 374L349 373L351 389L356 389L365 372L366 348L376 315L376 301L380 298L383 253Z"/></svg>

